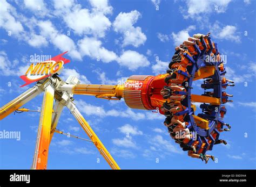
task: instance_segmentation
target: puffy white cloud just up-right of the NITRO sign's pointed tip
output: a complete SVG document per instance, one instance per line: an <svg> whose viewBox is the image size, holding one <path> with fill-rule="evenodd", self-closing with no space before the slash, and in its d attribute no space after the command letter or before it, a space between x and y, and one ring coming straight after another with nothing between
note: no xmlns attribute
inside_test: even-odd
<svg viewBox="0 0 256 187"><path fill-rule="evenodd" d="M103 62L111 62L117 59L116 53L102 47L102 42L96 38L85 37L78 41L79 52L82 56L90 56Z"/></svg>

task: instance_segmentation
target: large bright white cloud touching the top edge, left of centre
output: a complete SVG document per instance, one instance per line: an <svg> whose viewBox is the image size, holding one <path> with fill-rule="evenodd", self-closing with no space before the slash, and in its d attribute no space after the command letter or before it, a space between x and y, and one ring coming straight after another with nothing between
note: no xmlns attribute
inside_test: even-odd
<svg viewBox="0 0 256 187"><path fill-rule="evenodd" d="M105 15L112 13L112 6L107 0L89 1L92 8L83 9L74 1L54 1L56 15L62 17L66 25L76 34L91 34L94 37L104 37L111 26L111 21Z"/></svg>

